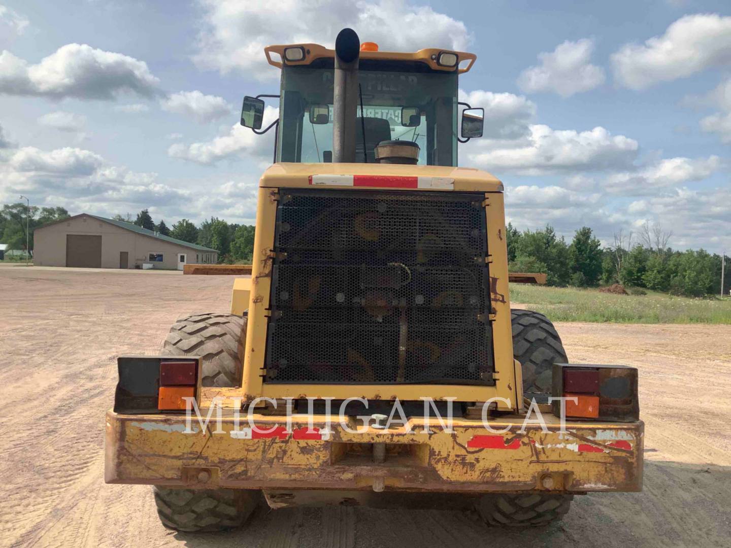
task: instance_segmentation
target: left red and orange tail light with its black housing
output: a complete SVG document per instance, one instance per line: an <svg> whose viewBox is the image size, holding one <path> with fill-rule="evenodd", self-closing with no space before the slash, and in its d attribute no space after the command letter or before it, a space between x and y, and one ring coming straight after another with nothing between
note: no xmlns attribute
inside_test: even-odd
<svg viewBox="0 0 731 548"><path fill-rule="evenodd" d="M185 398L197 397L200 392L197 358L118 357L117 365L116 413L185 411Z"/></svg>

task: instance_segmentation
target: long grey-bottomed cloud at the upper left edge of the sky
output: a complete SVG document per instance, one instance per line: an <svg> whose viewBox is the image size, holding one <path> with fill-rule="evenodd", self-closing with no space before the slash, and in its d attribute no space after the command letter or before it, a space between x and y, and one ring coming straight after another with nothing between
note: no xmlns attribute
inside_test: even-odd
<svg viewBox="0 0 731 548"><path fill-rule="evenodd" d="M144 61L86 44L61 46L38 64L0 53L0 94L55 99L114 99L120 94L153 96L159 80Z"/></svg>

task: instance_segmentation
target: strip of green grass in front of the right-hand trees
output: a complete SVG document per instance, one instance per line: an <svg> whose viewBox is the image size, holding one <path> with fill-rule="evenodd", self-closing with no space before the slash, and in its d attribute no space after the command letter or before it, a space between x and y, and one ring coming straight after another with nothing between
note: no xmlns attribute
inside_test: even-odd
<svg viewBox="0 0 731 548"><path fill-rule="evenodd" d="M544 313L551 321L621 324L731 324L731 300L599 293L596 289L510 284L510 300Z"/></svg>

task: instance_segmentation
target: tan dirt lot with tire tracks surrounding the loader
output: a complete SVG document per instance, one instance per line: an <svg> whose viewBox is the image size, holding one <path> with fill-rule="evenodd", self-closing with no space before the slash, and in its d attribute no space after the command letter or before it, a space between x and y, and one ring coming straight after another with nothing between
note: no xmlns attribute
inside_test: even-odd
<svg viewBox="0 0 731 548"><path fill-rule="evenodd" d="M640 368L642 493L575 499L560 525L488 529L454 511L262 509L249 527L159 524L150 487L103 482L115 357L178 316L226 311L232 278L0 266L0 545L720 547L731 545L731 326L558 324L573 362Z"/></svg>

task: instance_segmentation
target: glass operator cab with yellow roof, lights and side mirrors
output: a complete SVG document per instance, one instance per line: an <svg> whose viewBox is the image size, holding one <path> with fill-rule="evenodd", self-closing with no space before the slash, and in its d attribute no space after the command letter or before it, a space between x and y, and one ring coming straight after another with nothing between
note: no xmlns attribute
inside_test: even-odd
<svg viewBox="0 0 731 548"><path fill-rule="evenodd" d="M256 133L276 129L274 161L333 161L335 51L316 44L276 45L266 47L265 54L281 69L280 94L246 96L241 125ZM373 42L364 42L357 76L355 161L376 163L380 143L403 141L418 148L417 164L456 166L457 142L482 137L484 110L458 100L458 75L475 59L472 53L437 49L380 52ZM260 97L279 97L279 119L264 131Z"/></svg>

